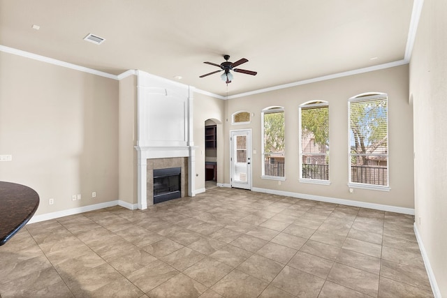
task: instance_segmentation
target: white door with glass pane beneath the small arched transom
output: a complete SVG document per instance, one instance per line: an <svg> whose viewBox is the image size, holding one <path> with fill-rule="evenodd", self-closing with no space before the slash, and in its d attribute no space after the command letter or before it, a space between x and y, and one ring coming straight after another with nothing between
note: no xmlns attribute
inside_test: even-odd
<svg viewBox="0 0 447 298"><path fill-rule="evenodd" d="M251 190L251 129L230 131L231 187Z"/></svg>

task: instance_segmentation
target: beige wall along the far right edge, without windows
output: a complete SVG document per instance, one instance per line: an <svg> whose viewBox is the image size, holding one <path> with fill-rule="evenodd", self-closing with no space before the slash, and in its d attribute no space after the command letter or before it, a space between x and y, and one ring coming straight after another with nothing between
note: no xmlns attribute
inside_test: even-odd
<svg viewBox="0 0 447 298"><path fill-rule="evenodd" d="M447 297L447 2L425 0L410 62L416 228Z"/></svg>

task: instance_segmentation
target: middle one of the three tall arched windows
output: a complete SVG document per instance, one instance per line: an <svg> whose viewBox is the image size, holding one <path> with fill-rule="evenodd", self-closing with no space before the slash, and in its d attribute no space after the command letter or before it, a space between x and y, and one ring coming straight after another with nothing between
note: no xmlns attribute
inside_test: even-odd
<svg viewBox="0 0 447 298"><path fill-rule="evenodd" d="M300 181L329 181L329 104L315 100L300 105Z"/></svg>

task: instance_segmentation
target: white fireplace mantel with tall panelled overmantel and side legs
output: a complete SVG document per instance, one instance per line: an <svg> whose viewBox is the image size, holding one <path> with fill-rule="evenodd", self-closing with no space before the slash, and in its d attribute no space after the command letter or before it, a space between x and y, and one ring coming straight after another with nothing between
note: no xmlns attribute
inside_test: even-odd
<svg viewBox="0 0 447 298"><path fill-rule="evenodd" d="M147 159L188 157L188 195L194 193L193 87L141 70L137 75L138 209L147 209Z"/></svg>

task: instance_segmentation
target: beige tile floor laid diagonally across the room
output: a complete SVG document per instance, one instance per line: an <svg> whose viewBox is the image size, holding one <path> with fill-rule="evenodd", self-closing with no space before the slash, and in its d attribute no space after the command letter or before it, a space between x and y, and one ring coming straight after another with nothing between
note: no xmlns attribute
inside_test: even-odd
<svg viewBox="0 0 447 298"><path fill-rule="evenodd" d="M413 216L212 188L29 224L6 297L433 297Z"/></svg>

